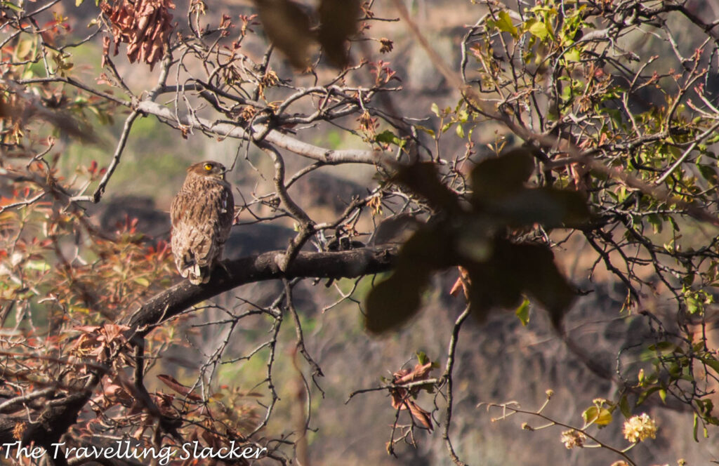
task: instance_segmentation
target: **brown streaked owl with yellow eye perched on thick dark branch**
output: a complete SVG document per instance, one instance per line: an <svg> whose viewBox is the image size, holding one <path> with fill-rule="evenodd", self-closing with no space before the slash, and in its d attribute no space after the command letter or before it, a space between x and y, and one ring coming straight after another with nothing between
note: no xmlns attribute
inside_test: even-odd
<svg viewBox="0 0 719 466"><path fill-rule="evenodd" d="M217 162L190 165L170 206L175 265L193 285L210 280L232 227L234 197L224 179L225 171Z"/></svg>

